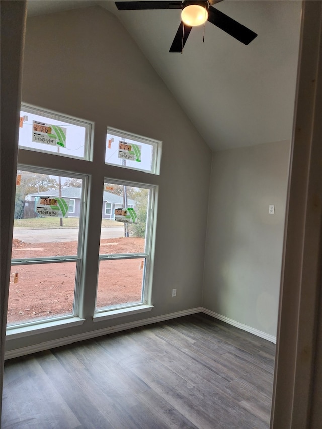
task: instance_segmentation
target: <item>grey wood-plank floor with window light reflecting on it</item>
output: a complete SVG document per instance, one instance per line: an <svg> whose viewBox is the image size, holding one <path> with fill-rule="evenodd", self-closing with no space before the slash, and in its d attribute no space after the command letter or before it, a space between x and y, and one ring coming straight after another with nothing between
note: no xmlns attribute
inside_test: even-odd
<svg viewBox="0 0 322 429"><path fill-rule="evenodd" d="M275 345L205 314L6 361L3 429L267 429Z"/></svg>

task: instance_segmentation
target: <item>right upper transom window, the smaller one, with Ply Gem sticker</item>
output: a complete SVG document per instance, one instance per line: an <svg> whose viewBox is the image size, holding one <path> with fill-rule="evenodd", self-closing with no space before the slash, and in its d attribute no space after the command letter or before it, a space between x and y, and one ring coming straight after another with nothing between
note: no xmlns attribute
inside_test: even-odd
<svg viewBox="0 0 322 429"><path fill-rule="evenodd" d="M131 136L108 128L105 163L125 168L158 173L157 156L160 142Z"/></svg>

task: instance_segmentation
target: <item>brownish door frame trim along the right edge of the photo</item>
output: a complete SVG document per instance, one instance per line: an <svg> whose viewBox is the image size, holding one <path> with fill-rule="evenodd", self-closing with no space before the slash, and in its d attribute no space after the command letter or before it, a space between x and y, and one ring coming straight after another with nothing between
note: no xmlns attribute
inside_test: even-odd
<svg viewBox="0 0 322 429"><path fill-rule="evenodd" d="M321 427L322 3L302 2L271 425Z"/></svg>

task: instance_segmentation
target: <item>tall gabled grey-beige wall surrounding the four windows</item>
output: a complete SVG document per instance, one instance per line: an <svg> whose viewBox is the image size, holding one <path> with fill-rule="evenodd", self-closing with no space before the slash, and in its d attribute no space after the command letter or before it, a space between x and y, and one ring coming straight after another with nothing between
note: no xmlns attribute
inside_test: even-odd
<svg viewBox="0 0 322 429"><path fill-rule="evenodd" d="M94 325L89 312L93 298L85 293L83 326L9 340L7 349L200 306L211 151L119 21L100 7L28 19L22 100L95 122L97 168L91 180L90 224L100 222L104 175L146 181L143 173L108 167L104 161L102 165L107 126L163 142L161 174L147 175L159 186L154 309ZM34 156L28 159L33 162ZM68 168L78 167L70 159ZM91 232L87 241L86 283L91 296L96 287L97 239ZM174 287L176 298L171 297Z"/></svg>

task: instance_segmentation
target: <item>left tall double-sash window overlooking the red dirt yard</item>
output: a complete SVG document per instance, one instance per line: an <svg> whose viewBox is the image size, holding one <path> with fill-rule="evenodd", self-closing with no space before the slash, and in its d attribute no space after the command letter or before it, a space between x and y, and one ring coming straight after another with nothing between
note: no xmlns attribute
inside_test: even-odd
<svg viewBox="0 0 322 429"><path fill-rule="evenodd" d="M70 187L77 181L78 188ZM85 178L17 171L8 326L77 312ZM78 217L69 218L70 201Z"/></svg>

